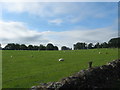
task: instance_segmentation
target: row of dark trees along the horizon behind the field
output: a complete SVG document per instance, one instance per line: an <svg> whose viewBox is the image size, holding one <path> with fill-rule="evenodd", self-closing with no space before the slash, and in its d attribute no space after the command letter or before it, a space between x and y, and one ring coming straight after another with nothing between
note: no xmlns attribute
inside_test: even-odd
<svg viewBox="0 0 120 90"><path fill-rule="evenodd" d="M93 43L83 43L77 42L73 45L73 50L80 50L80 49L95 49L95 48L120 48L120 37L112 38L108 42L99 43L97 42L95 45ZM57 46L54 46L52 43L48 43L46 46L40 44L37 45L28 45L25 44L15 44L15 43L8 43L2 50L59 50ZM67 46L62 46L61 50L72 50Z"/></svg>

